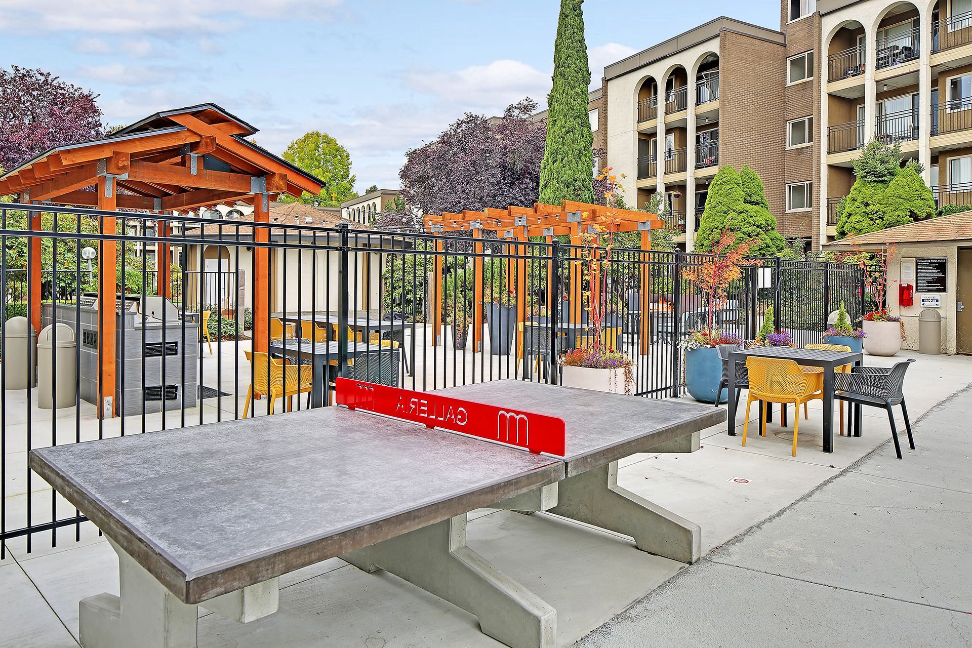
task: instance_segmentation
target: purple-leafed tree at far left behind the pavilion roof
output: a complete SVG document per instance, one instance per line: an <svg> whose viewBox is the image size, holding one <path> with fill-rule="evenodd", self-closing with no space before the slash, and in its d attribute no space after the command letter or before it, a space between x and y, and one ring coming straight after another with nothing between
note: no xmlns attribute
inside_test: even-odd
<svg viewBox="0 0 972 648"><path fill-rule="evenodd" d="M50 72L0 68L0 168L14 169L52 147L100 137L97 96Z"/></svg>

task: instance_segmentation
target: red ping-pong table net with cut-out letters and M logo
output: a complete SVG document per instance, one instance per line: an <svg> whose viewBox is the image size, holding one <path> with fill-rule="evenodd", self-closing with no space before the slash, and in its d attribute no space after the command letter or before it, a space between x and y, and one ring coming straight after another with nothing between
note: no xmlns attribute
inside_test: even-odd
<svg viewBox="0 0 972 648"><path fill-rule="evenodd" d="M335 385L337 404L349 409L461 432L532 453L563 457L566 451L564 420L557 417L348 378L338 378Z"/></svg>

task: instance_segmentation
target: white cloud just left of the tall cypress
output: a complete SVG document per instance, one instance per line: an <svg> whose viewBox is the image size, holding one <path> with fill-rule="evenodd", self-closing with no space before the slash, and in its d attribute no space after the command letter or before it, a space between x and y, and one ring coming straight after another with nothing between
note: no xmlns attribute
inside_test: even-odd
<svg viewBox="0 0 972 648"><path fill-rule="evenodd" d="M525 96L542 99L550 89L550 75L523 61L503 58L455 72L412 73L405 84L469 110L497 111Z"/></svg>

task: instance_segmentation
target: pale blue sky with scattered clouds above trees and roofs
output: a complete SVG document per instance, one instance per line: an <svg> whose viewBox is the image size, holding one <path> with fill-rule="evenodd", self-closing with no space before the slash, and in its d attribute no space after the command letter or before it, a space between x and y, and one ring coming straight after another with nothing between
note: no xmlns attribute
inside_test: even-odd
<svg viewBox="0 0 972 648"><path fill-rule="evenodd" d="M0 0L0 64L99 93L111 124L206 101L274 153L324 130L356 188L397 188L403 153L470 111L550 85L558 0ZM779 28L780 4L587 0L591 72L702 22Z"/></svg>

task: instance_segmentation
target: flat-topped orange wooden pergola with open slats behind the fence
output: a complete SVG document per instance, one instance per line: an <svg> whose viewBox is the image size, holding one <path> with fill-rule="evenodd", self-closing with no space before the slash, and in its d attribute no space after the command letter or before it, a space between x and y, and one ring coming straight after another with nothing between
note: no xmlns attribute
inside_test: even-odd
<svg viewBox="0 0 972 648"><path fill-rule="evenodd" d="M644 251L651 249L651 230L660 229L665 226L665 222L656 214L636 212L628 209L611 209L603 205L591 205L588 203L565 200L560 205L547 205L537 203L532 208L509 206L505 209L486 208L481 212L464 211L461 214L443 213L440 216L426 216L426 230L434 234L456 233L469 231L474 243L473 256L473 309L472 309L472 348L477 350L481 346L482 340L482 318L483 318L483 244L479 241L484 230L496 232L497 239L511 242L509 254L516 256L515 272L514 263L507 264L508 286L516 283L516 293L525 295L527 289L526 264L531 256L528 253L530 237L542 236L547 243L553 241L554 236L567 235L571 237L571 244L578 246L582 243L585 234L599 235L603 231L617 232L641 232L641 249ZM515 242L515 243L512 243ZM435 251L441 252L443 245L440 240L435 241ZM581 303L578 299L580 289L581 272L581 250L571 248L571 281L570 281L570 305L572 310L573 322L579 322ZM512 261L512 258L511 258ZM597 272L598 269L595 269ZM648 266L642 263L642 287L647 286ZM436 286L442 281L442 257L434 257L433 277ZM549 282L549 277L547 281ZM596 300L598 295L598 282L595 282L591 290L591 299ZM437 303L434 305L433 329L435 342L441 329L442 317L442 290L435 290ZM642 289L642 313L648 313L647 290ZM553 299L556 295L551 295L551 307L554 307ZM517 324L527 320L527 300L517 299ZM648 345L648 318L642 317L642 353L647 353ZM519 334L518 334L519 337ZM517 340L519 342L519 339Z"/></svg>

